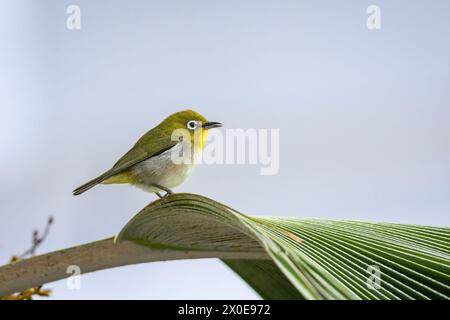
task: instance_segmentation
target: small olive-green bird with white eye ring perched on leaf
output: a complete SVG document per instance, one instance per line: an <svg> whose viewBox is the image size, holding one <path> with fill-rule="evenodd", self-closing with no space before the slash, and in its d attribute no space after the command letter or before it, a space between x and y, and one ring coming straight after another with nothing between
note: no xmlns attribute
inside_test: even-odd
<svg viewBox="0 0 450 320"><path fill-rule="evenodd" d="M220 122L208 122L193 110L176 112L144 134L111 169L78 187L73 194L82 194L99 183L129 183L160 198L163 197L160 191L165 192L164 196L172 194L171 189L191 175L208 130L221 126ZM178 129L185 134L174 138ZM174 155L182 155L186 150L191 161L174 161Z"/></svg>

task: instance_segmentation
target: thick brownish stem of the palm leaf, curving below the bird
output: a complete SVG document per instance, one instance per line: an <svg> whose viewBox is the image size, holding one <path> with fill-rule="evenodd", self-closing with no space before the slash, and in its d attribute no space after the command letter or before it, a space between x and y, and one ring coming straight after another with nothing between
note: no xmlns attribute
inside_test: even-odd
<svg viewBox="0 0 450 320"><path fill-rule="evenodd" d="M178 251L154 249L130 241L114 243L109 238L0 267L0 296L69 277L71 274L67 273L67 268L70 265L78 266L84 274L143 262L199 258L269 259L263 249L259 252Z"/></svg>

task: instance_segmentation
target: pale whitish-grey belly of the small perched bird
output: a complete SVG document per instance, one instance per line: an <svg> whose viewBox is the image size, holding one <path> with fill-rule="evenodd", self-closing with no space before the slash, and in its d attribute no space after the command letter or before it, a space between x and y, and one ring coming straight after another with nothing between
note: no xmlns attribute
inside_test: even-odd
<svg viewBox="0 0 450 320"><path fill-rule="evenodd" d="M182 184L191 175L194 162L177 164L172 161L172 152L179 153L181 150L182 143L178 143L172 149L137 164L133 169L138 178L135 185L149 192L157 192L161 190L153 184L169 189Z"/></svg>

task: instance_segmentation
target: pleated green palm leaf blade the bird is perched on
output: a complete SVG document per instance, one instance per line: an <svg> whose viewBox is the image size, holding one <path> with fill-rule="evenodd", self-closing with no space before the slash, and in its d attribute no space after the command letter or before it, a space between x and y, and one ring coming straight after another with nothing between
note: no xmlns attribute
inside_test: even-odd
<svg viewBox="0 0 450 320"><path fill-rule="evenodd" d="M142 210L118 235L123 240L171 250L263 248L271 262L225 262L264 298L450 297L449 228L249 217L177 194Z"/></svg>

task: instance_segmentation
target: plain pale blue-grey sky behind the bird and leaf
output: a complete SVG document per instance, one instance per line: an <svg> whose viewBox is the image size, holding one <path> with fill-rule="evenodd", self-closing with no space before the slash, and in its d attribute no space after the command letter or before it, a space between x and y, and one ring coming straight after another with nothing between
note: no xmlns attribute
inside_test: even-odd
<svg viewBox="0 0 450 320"><path fill-rule="evenodd" d="M66 8L81 8L81 30ZM381 7L381 30L366 8ZM72 190L172 112L280 129L280 171L201 165L178 192L254 215L449 226L449 1L0 1L0 262L116 234L155 197ZM55 299L257 298L218 260L48 285Z"/></svg>

